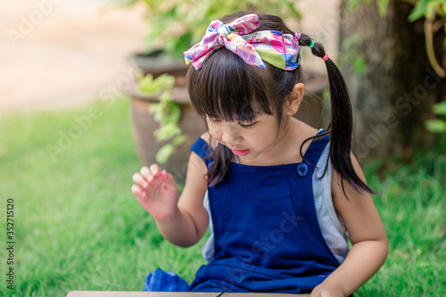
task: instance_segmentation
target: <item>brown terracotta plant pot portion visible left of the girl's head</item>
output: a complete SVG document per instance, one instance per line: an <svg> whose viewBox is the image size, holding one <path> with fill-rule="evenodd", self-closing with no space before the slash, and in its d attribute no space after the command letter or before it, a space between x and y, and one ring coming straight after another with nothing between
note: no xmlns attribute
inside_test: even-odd
<svg viewBox="0 0 446 297"><path fill-rule="evenodd" d="M137 67L144 74L152 73L154 78L163 73L175 77L175 88L171 95L172 100L178 103L181 108L179 128L186 136L186 141L178 146L177 152L169 158L167 163L162 164L161 168L167 169L178 182L184 182L186 180L187 161L190 155L189 148L206 131L204 122L191 106L186 91L186 71L188 66L185 65L184 61L143 56L134 56L132 60L136 62ZM159 102L159 97L157 95L146 95L138 91L136 85L128 91L128 95L131 97L131 119L136 153L143 165L150 166L156 163L156 153L161 146L166 144L165 142L158 143L155 141L153 132L160 128L160 125L153 119L153 114L149 111L151 104Z"/></svg>

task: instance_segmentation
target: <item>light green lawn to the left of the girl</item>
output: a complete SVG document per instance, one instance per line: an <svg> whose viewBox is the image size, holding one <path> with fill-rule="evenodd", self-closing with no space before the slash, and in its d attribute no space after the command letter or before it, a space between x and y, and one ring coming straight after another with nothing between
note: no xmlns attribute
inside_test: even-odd
<svg viewBox="0 0 446 297"><path fill-rule="evenodd" d="M200 246L182 249L165 242L130 192L140 162L128 100L95 105L101 116L80 136L70 129L87 108L12 116L0 123L0 211L5 218L6 199L12 196L16 296L142 291L155 268L192 281L203 263ZM59 146L64 133L78 139L72 145L65 139L62 153L49 153L47 145ZM8 296L5 219L0 228L1 293Z"/></svg>

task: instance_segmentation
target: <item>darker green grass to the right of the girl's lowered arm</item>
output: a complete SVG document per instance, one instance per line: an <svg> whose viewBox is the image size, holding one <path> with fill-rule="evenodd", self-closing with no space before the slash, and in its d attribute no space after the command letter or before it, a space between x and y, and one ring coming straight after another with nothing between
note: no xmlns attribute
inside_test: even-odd
<svg viewBox="0 0 446 297"><path fill-rule="evenodd" d="M382 194L376 207L389 237L383 268L358 296L446 295L446 145L417 152L411 165L402 161L368 164L369 184ZM383 178L376 176L378 168Z"/></svg>

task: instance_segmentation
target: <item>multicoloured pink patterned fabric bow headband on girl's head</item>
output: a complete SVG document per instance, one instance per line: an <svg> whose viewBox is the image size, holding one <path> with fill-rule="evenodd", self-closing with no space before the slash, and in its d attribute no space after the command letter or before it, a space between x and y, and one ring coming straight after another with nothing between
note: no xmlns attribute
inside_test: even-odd
<svg viewBox="0 0 446 297"><path fill-rule="evenodd" d="M295 69L299 65L301 51L297 39L291 34L273 30L249 34L259 26L257 14L247 14L227 25L222 21L212 21L202 41L184 52L186 64L192 63L198 70L213 52L226 46L250 65L265 68L264 60L283 70Z"/></svg>

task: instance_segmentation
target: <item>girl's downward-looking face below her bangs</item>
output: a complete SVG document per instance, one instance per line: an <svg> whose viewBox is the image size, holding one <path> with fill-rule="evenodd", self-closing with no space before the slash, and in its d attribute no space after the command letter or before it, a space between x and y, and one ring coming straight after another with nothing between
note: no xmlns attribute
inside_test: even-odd
<svg viewBox="0 0 446 297"><path fill-rule="evenodd" d="M273 115L260 114L252 122L212 120L206 117L209 132L226 145L239 160L259 160L277 144L279 125Z"/></svg>

